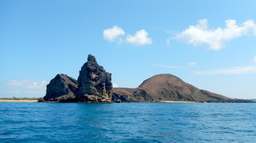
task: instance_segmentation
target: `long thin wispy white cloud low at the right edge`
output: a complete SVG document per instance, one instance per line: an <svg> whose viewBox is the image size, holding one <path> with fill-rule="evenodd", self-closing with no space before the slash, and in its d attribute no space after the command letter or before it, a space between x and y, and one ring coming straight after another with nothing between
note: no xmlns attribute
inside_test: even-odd
<svg viewBox="0 0 256 143"><path fill-rule="evenodd" d="M232 75L232 74L246 74L256 73L256 57L253 58L253 65L251 66L233 66L224 69L212 69L207 71L196 71L194 74L197 75Z"/></svg>

